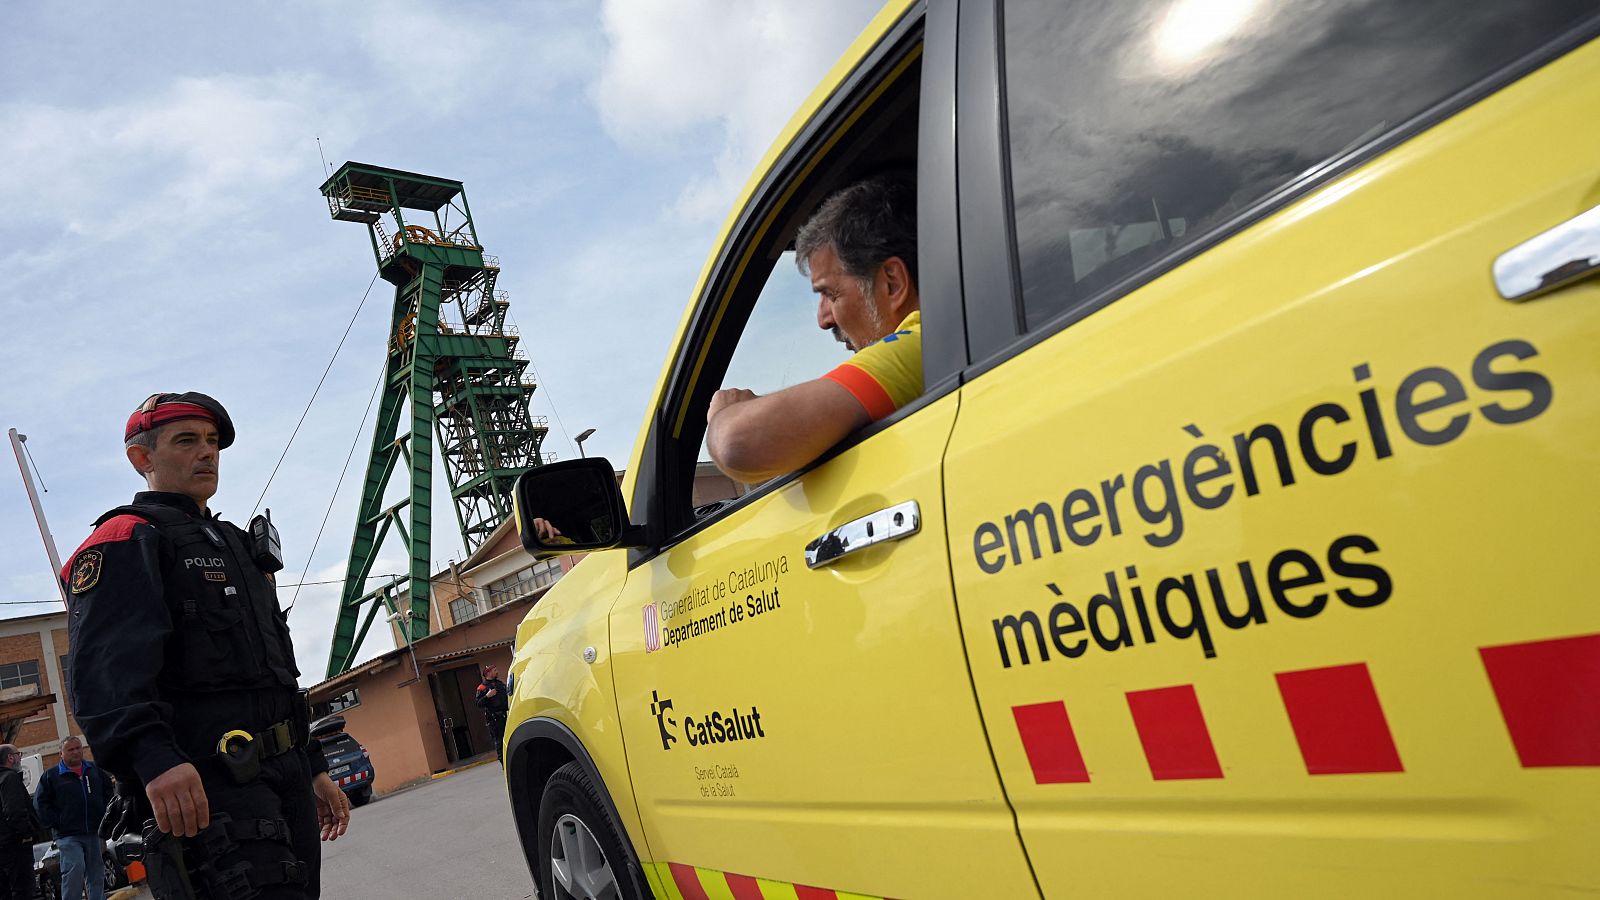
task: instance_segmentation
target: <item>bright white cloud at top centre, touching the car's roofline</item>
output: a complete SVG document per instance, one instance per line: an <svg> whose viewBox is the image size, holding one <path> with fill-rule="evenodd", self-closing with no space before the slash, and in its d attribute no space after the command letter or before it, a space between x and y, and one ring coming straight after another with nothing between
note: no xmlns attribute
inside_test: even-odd
<svg viewBox="0 0 1600 900"><path fill-rule="evenodd" d="M683 189L675 211L690 221L720 219L877 8L864 0L606 0L610 46L595 85L602 125L635 149L715 144L712 171Z"/></svg>

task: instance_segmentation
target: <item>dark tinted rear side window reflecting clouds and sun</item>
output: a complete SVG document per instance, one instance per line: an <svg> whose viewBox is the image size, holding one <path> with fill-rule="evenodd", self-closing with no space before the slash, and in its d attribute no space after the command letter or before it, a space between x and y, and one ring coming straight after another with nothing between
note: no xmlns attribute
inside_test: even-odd
<svg viewBox="0 0 1600 900"><path fill-rule="evenodd" d="M1006 3L1026 327L1594 14L1581 0Z"/></svg>

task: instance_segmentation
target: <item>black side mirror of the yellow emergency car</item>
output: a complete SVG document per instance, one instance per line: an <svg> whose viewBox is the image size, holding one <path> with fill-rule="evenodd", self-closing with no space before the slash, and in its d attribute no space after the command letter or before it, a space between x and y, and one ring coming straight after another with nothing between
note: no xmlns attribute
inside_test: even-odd
<svg viewBox="0 0 1600 900"><path fill-rule="evenodd" d="M534 557L638 546L616 471L602 456L534 466L512 496L517 535Z"/></svg>

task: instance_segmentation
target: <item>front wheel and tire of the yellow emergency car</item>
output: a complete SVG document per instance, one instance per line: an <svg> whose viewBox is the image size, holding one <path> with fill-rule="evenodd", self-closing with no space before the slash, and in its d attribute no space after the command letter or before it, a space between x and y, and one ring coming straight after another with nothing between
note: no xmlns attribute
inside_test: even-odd
<svg viewBox="0 0 1600 900"><path fill-rule="evenodd" d="M651 897L600 790L578 762L562 765L544 783L538 850L539 897L546 900Z"/></svg>

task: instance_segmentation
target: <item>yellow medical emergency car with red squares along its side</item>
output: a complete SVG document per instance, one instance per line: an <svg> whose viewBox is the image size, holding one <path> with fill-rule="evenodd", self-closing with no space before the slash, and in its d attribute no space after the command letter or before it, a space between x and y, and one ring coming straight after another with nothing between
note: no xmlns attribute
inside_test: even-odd
<svg viewBox="0 0 1600 900"><path fill-rule="evenodd" d="M621 485L520 485L526 546L597 551L517 634L542 895L1600 894L1597 37L1594 0L890 3L728 218ZM795 231L894 167L922 397L696 503L712 394L838 357Z"/></svg>

